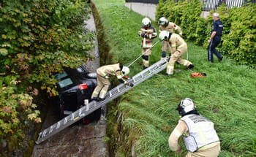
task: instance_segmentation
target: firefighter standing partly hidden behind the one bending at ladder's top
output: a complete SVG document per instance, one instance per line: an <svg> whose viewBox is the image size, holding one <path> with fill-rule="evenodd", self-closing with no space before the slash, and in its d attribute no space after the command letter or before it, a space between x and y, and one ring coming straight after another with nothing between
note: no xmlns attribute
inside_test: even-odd
<svg viewBox="0 0 256 157"><path fill-rule="evenodd" d="M180 36L182 36L181 28L175 23L170 23L165 17L159 18L158 20L159 31L169 31L170 33L178 32ZM162 58L165 58L167 49L169 48L169 56L170 53L170 45L166 41L162 41Z"/></svg>

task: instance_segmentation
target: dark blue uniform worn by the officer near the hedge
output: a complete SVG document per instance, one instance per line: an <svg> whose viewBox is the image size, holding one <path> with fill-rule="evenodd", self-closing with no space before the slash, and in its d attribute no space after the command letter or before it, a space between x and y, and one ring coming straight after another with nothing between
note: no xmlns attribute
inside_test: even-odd
<svg viewBox="0 0 256 157"><path fill-rule="evenodd" d="M213 29L211 30L211 34L213 31L216 31L214 39L211 40L210 45L208 46L208 61L214 62L214 56L217 55L219 60L222 60L222 55L215 49L220 42L220 38L222 36L223 31L223 23L220 20L216 20L213 24Z"/></svg>

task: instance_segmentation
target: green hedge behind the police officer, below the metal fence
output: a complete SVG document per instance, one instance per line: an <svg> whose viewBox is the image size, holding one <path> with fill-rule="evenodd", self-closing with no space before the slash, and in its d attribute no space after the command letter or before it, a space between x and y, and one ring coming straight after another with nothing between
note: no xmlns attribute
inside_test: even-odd
<svg viewBox="0 0 256 157"><path fill-rule="evenodd" d="M211 31L211 18L200 18L202 3L200 0L178 1L160 0L156 18L164 16L181 26L184 38L197 45L208 46ZM219 51L240 64L256 67L256 4L247 3L243 7L227 9L225 4L218 7L220 20L224 23L222 44Z"/></svg>

